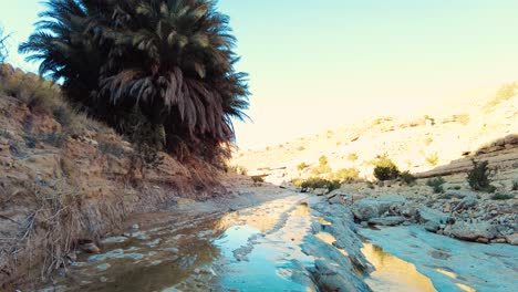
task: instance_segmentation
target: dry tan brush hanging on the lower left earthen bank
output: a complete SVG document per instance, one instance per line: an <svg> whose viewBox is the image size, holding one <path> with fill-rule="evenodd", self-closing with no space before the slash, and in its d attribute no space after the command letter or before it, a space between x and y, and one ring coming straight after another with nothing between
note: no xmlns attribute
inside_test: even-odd
<svg viewBox="0 0 518 292"><path fill-rule="evenodd" d="M126 211L122 195L117 200L100 198L101 204L90 205L69 186L61 180L52 188L38 182L28 187L37 208L27 217L19 236L3 244L9 248L1 254L8 267L2 269L1 278L7 279L2 289L14 289L17 283L35 286L51 280L60 269L66 273L69 255L80 240L96 240L103 232L121 228Z"/></svg>

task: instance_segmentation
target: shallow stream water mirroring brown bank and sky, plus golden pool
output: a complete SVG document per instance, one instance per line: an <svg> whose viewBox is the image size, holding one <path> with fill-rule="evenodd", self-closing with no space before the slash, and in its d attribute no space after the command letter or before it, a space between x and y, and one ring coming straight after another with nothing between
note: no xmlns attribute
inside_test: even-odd
<svg viewBox="0 0 518 292"><path fill-rule="evenodd" d="M311 244L336 251L336 262L353 251L334 247L325 232L333 220L311 209L314 200L292 195L239 211L175 213L105 239L104 253L81 254L42 291L324 291L314 267L328 259L308 252ZM436 291L414 264L369 242L361 253L374 269L355 277L373 291Z"/></svg>

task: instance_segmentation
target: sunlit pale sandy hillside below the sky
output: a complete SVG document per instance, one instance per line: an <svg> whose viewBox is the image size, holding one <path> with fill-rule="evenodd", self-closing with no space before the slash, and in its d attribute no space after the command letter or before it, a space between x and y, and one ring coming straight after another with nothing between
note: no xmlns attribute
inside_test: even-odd
<svg viewBox="0 0 518 292"><path fill-rule="evenodd" d="M323 155L334 171L354 167L360 177L371 178L370 161L385 153L400 169L425 173L479 155L486 147L486 154L505 150L506 160L515 161L506 167L514 167L518 159L514 134L518 134L517 83L473 91L405 117L387 113L265 149L240 150L232 164L249 175L269 175L267 180L282 182L310 176ZM299 170L301 163L309 167Z"/></svg>

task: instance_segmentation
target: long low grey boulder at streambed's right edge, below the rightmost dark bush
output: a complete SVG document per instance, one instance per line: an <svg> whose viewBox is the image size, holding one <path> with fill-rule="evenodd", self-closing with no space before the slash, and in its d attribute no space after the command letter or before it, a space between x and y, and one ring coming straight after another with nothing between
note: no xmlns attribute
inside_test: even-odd
<svg viewBox="0 0 518 292"><path fill-rule="evenodd" d="M498 231L495 226L488 222L468 223L457 221L452 226L447 226L444 233L463 240L476 241L479 238L494 239Z"/></svg>

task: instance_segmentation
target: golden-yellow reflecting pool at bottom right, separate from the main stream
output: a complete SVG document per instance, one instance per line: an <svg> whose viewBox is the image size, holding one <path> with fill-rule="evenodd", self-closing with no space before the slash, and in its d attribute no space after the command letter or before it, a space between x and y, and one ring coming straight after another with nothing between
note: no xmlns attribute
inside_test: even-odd
<svg viewBox="0 0 518 292"><path fill-rule="evenodd" d="M365 280L373 291L436 291L432 281L415 267L371 243L364 243L362 252L375 271Z"/></svg>

